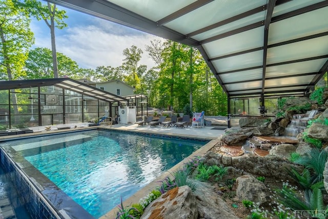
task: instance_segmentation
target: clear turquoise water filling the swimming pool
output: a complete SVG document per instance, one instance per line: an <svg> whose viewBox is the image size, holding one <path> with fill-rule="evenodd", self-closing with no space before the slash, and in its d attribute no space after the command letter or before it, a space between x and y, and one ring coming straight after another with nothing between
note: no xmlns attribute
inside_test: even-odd
<svg viewBox="0 0 328 219"><path fill-rule="evenodd" d="M42 137L13 148L98 218L204 144L104 130Z"/></svg>

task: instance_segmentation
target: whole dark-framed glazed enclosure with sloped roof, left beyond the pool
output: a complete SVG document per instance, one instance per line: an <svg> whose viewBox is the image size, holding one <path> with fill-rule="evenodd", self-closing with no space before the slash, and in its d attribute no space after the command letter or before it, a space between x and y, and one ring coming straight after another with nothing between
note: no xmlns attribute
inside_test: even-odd
<svg viewBox="0 0 328 219"><path fill-rule="evenodd" d="M114 119L118 106L134 102L70 78L3 81L0 130Z"/></svg>

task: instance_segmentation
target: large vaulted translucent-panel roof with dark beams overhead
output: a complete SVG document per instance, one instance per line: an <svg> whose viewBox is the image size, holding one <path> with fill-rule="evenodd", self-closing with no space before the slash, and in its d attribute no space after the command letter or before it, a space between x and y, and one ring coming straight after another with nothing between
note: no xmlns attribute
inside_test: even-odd
<svg viewBox="0 0 328 219"><path fill-rule="evenodd" d="M229 97L304 95L328 66L328 1L49 2L196 47Z"/></svg>

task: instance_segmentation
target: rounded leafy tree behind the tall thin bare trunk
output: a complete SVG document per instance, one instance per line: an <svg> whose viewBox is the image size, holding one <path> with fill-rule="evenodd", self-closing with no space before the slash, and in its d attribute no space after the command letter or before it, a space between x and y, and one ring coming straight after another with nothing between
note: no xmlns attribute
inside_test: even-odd
<svg viewBox="0 0 328 219"><path fill-rule="evenodd" d="M60 77L74 77L79 68L75 61L66 55L57 52L58 75ZM29 52L26 61L27 78L52 78L54 77L52 52L48 48L35 48Z"/></svg>

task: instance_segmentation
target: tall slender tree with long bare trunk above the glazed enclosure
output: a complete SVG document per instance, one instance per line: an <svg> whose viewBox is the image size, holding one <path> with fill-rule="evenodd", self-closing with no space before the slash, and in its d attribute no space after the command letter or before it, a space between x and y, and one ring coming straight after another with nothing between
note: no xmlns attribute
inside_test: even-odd
<svg viewBox="0 0 328 219"><path fill-rule="evenodd" d="M58 77L55 27L58 29L67 27L67 24L63 21L63 19L68 17L66 11L58 10L55 4L49 2L47 5L44 5L36 0L25 0L24 4L18 0L15 1L18 6L26 8L32 16L38 21L43 20L50 28L53 76Z"/></svg>

